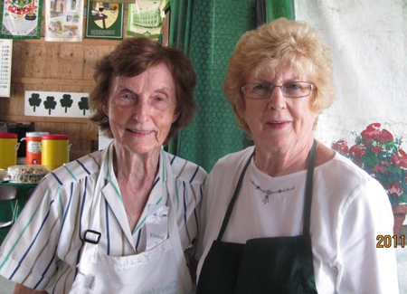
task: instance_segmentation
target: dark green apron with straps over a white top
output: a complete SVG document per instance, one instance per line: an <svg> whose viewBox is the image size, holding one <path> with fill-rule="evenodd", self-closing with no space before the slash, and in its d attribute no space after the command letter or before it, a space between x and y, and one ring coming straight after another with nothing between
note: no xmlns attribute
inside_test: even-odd
<svg viewBox="0 0 407 294"><path fill-rule="evenodd" d="M251 239L246 244L222 242L253 152L241 172L218 239L204 261L197 294L317 293L309 235L316 149L314 140L309 151L303 235Z"/></svg>

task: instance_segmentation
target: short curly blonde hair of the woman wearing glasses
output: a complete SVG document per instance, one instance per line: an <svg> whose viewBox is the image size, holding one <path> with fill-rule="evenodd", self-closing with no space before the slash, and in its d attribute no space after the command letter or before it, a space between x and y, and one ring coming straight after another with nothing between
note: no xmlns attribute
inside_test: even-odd
<svg viewBox="0 0 407 294"><path fill-rule="evenodd" d="M241 87L261 70L282 66L298 71L300 77L307 76L317 86L310 101L313 111L321 113L335 99L332 60L317 31L306 23L286 18L263 24L244 33L236 43L223 82L223 92L236 119L249 135L251 131L237 111L245 107Z"/></svg>

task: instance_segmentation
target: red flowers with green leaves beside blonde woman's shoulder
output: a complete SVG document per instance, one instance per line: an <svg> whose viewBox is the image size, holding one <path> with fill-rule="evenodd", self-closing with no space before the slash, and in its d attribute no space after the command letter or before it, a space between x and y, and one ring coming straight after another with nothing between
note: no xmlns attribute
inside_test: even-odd
<svg viewBox="0 0 407 294"><path fill-rule="evenodd" d="M401 148L402 140L373 123L355 138L348 147L345 140L332 144L332 148L350 158L357 166L383 185L393 208L407 204L407 154Z"/></svg>

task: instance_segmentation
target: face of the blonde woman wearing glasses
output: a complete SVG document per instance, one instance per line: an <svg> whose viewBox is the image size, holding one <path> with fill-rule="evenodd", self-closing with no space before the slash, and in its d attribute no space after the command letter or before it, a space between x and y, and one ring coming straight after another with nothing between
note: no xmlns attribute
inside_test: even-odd
<svg viewBox="0 0 407 294"><path fill-rule="evenodd" d="M265 69L252 76L248 83L268 83L279 86L287 81L308 81L289 67ZM312 140L317 113L309 107L310 94L301 98L286 98L280 88L274 88L267 100L244 98L245 109L239 111L246 120L257 147L287 149L301 147Z"/></svg>

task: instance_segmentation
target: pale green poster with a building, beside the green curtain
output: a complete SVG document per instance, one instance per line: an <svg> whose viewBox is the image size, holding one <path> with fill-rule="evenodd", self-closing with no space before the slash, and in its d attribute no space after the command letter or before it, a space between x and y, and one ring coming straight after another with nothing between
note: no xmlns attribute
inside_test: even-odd
<svg viewBox="0 0 407 294"><path fill-rule="evenodd" d="M128 5L128 37L158 40L169 0L136 0Z"/></svg>

